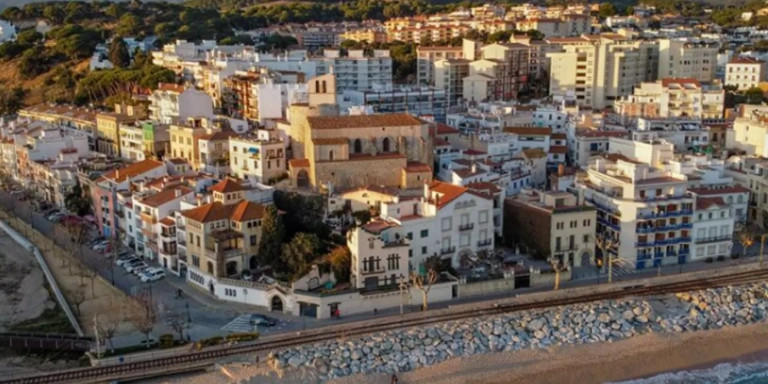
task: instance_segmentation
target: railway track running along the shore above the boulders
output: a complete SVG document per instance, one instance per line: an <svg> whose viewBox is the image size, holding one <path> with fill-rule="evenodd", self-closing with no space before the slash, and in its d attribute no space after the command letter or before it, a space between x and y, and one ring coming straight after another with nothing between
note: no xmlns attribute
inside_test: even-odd
<svg viewBox="0 0 768 384"><path fill-rule="evenodd" d="M47 383L98 383L108 381L136 380L157 377L173 373L190 372L210 367L221 358L267 353L269 351L290 348L297 345L333 340L340 337L360 336L384 332L393 329L410 328L447 321L462 320L478 316L491 316L502 313L543 309L562 305L587 303L598 300L613 300L628 296L653 296L674 292L708 289L727 285L739 285L768 279L768 270L757 270L724 274L717 277L702 278L690 281L664 283L652 286L635 285L620 286L608 292L576 295L535 302L510 304L486 304L483 307L468 308L458 312L429 313L416 318L394 319L381 324L357 325L349 324L342 330L328 331L318 329L298 336L287 336L279 340L264 341L257 344L234 345L229 347L212 348L206 351L192 352L183 355L159 358L154 360L137 361L127 364L104 367L79 368L60 372L43 373L34 376L0 379L0 384L47 384Z"/></svg>

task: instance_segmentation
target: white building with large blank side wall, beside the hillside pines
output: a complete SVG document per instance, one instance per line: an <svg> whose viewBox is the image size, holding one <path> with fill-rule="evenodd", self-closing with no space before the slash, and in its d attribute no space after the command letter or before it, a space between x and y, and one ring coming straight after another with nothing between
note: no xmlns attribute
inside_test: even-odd
<svg viewBox="0 0 768 384"><path fill-rule="evenodd" d="M160 84L149 96L149 102L150 119L161 124L176 124L190 117L214 117L211 96L176 84Z"/></svg>

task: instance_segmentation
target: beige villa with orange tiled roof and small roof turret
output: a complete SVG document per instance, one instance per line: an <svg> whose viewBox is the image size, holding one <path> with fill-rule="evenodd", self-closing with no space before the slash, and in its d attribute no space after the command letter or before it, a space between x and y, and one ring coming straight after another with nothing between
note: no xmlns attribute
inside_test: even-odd
<svg viewBox="0 0 768 384"><path fill-rule="evenodd" d="M213 202L182 211L186 228L187 279L196 284L202 274L234 277L256 269L265 207L244 200L245 187L231 179L212 186ZM212 286L203 286L213 290Z"/></svg>

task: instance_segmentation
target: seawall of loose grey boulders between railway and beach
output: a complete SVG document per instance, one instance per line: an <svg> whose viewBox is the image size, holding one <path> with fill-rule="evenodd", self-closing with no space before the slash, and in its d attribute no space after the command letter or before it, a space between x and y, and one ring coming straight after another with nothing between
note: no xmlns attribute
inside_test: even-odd
<svg viewBox="0 0 768 384"><path fill-rule="evenodd" d="M652 299L594 302L446 322L280 351L276 367L305 367L321 380L395 373L453 357L682 333L762 322L768 283Z"/></svg>

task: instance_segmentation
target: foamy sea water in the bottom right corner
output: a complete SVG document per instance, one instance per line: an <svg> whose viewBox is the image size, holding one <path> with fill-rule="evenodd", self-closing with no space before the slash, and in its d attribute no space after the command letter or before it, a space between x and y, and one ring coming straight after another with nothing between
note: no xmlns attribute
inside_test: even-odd
<svg viewBox="0 0 768 384"><path fill-rule="evenodd" d="M768 384L768 362L721 363L711 368L667 372L614 384Z"/></svg>

